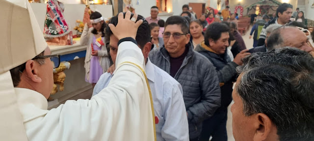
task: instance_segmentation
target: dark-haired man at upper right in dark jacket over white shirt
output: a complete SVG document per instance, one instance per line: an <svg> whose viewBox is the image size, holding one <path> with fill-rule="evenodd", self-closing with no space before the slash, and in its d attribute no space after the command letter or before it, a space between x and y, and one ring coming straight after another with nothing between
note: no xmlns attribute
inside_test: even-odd
<svg viewBox="0 0 314 141"><path fill-rule="evenodd" d="M273 20L270 20L269 22L267 22L263 26L257 46L262 46L265 44L264 42L265 42L265 38L266 38L267 26L269 26L270 24L285 25L285 24L290 22L291 15L292 15L292 5L291 4L283 3L283 4L279 5L279 7L276 10L276 16L278 18L274 18Z"/></svg>

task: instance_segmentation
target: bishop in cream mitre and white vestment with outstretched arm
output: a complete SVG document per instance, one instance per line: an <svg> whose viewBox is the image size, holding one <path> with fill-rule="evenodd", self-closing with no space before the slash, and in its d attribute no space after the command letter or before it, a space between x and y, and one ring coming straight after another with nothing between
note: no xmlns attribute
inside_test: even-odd
<svg viewBox="0 0 314 141"><path fill-rule="evenodd" d="M59 56L51 55L28 0L1 0L0 8L1 141L156 141L144 57L134 40L142 20L127 12L109 24L119 39L118 66L104 90L47 110Z"/></svg>

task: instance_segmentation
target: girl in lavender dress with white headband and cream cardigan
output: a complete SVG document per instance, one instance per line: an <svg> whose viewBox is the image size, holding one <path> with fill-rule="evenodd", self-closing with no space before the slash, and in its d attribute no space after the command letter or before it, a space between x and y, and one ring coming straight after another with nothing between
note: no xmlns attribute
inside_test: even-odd
<svg viewBox="0 0 314 141"><path fill-rule="evenodd" d="M91 28L85 24L80 37L81 45L88 45L85 56L85 81L95 87L100 76L110 67L105 47L105 21L99 12L90 15Z"/></svg>

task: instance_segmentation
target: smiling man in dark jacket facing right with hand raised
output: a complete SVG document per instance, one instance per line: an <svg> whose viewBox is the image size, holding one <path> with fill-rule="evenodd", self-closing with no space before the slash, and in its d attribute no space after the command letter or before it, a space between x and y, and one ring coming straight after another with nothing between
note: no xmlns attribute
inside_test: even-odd
<svg viewBox="0 0 314 141"><path fill-rule="evenodd" d="M227 113L228 106L232 101L232 87L235 82L237 66L242 65L248 49L242 50L231 61L226 48L229 46L229 27L226 24L210 24L205 33L205 41L195 48L195 51L203 54L216 67L221 90L221 107L215 114L203 122L201 141L228 141L227 137Z"/></svg>

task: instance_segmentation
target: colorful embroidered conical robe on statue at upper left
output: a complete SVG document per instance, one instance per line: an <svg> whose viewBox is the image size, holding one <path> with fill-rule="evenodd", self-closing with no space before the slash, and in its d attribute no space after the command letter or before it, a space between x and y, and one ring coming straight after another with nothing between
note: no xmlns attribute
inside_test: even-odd
<svg viewBox="0 0 314 141"><path fill-rule="evenodd" d="M63 4L57 0L49 0L44 28L45 38L62 37L70 33L69 26L63 18Z"/></svg>

